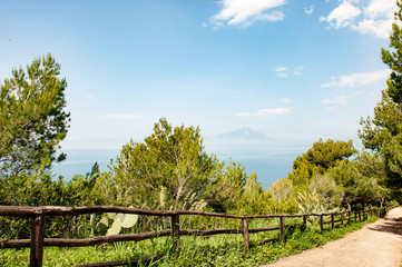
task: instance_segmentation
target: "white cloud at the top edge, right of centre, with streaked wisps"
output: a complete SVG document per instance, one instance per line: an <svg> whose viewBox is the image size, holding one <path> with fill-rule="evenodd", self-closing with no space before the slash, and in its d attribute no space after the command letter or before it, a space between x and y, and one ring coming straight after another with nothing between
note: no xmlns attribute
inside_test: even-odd
<svg viewBox="0 0 402 267"><path fill-rule="evenodd" d="M217 27L248 27L255 21L278 21L285 18L282 11L267 12L286 3L285 0L223 0L222 10L210 18Z"/></svg>

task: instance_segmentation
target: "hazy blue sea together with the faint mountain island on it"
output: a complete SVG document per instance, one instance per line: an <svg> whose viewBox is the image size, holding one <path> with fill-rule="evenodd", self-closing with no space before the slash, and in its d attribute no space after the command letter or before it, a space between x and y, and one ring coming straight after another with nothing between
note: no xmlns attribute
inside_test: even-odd
<svg viewBox="0 0 402 267"><path fill-rule="evenodd" d="M292 170L293 160L305 152L311 144L276 140L251 128L204 139L208 155L219 160L229 159L241 162L247 174L257 172L258 181L265 189L275 180L284 178ZM70 180L75 175L86 175L98 162L100 171L108 170L110 159L115 159L119 149L65 149L67 159L52 168L56 177Z"/></svg>

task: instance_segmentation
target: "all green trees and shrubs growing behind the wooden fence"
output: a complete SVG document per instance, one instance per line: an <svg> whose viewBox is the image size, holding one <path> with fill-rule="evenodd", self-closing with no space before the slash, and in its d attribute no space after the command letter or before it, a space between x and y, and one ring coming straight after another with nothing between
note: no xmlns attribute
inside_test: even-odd
<svg viewBox="0 0 402 267"><path fill-rule="evenodd" d="M392 70L388 88L374 117L362 119L359 130L366 150L357 151L352 141L318 139L294 160L287 177L265 190L257 174L246 174L241 162L208 155L198 127L173 126L161 118L150 136L125 145L107 171L100 172L95 164L87 175L66 181L55 177L51 165L65 159L65 155L56 158L56 151L69 128L63 95L67 82L59 77L60 65L48 55L27 69L13 70L0 87L0 205L116 205L257 215L354 210L401 201L402 3L398 1L398 6L390 48L382 49L382 60ZM56 218L47 222L46 235L102 235L98 226L104 218ZM167 224L138 217L127 231ZM232 222L188 218L183 224L207 229ZM0 218L0 238L29 236L29 220Z"/></svg>

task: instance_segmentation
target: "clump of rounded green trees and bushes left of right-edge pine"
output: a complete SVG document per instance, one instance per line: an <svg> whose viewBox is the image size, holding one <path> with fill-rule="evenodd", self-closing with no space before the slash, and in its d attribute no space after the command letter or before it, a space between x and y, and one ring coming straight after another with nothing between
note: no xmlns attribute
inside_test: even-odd
<svg viewBox="0 0 402 267"><path fill-rule="evenodd" d="M331 210L342 205L349 209L356 205L383 206L389 196L385 176L379 154L357 154L352 141L320 139L295 159L286 178L271 186L275 200L271 205L275 212Z"/></svg>

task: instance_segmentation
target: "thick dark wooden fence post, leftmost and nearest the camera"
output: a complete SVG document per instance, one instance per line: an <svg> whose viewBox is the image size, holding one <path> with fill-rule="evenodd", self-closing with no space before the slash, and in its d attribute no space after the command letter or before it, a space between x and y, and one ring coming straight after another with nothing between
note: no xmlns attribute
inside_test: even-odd
<svg viewBox="0 0 402 267"><path fill-rule="evenodd" d="M30 267L42 267L43 263L45 214L40 212L32 217Z"/></svg>

